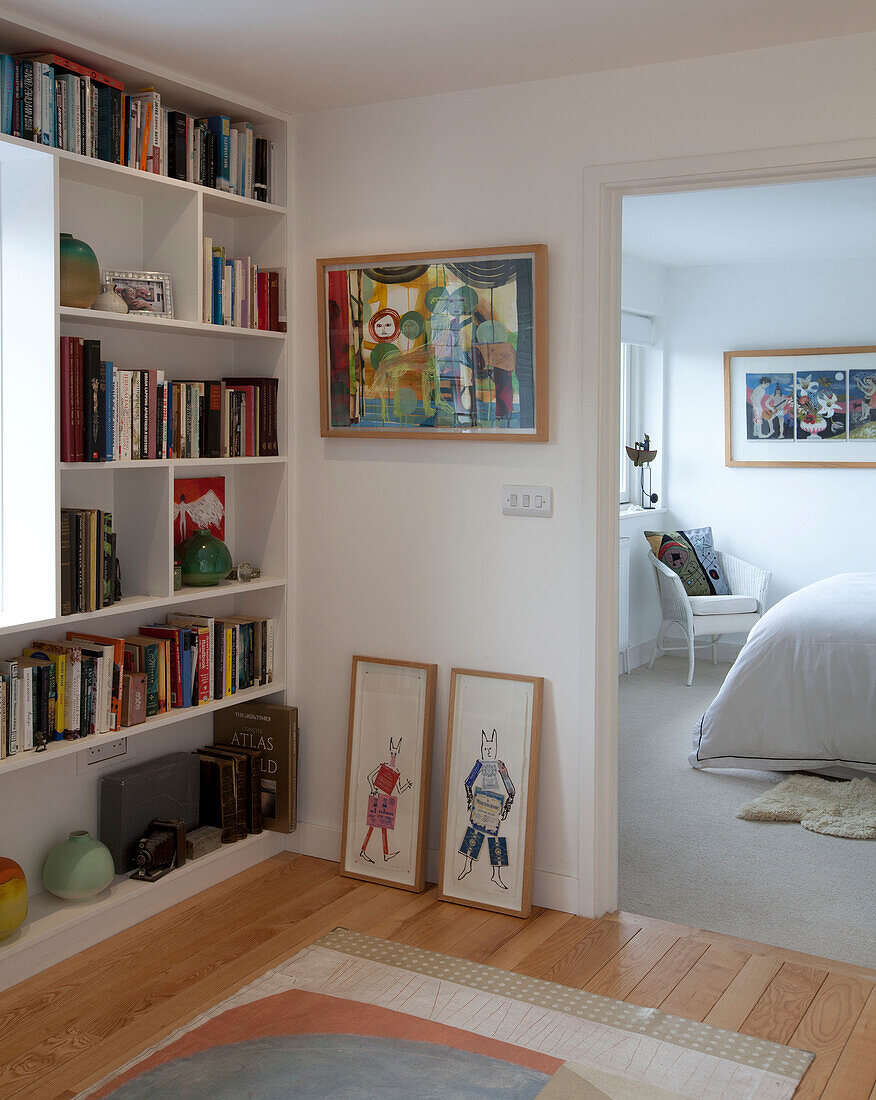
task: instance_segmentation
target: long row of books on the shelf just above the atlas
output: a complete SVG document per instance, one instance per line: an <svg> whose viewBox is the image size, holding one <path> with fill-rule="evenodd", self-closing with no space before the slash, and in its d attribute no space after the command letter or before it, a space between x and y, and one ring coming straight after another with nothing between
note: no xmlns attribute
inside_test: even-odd
<svg viewBox="0 0 876 1100"><path fill-rule="evenodd" d="M0 757L114 733L273 682L274 620L168 615L124 638L68 630L0 661Z"/></svg>

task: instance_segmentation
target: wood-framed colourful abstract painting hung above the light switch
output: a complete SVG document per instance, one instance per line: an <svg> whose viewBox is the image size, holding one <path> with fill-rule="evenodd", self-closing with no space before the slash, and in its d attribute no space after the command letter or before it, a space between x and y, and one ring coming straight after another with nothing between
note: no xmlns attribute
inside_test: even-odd
<svg viewBox="0 0 876 1100"><path fill-rule="evenodd" d="M324 436L548 438L547 246L317 261Z"/></svg>

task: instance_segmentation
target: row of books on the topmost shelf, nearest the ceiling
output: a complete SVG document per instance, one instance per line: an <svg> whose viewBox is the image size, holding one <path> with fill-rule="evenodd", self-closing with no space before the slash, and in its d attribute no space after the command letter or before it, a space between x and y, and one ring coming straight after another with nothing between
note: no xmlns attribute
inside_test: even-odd
<svg viewBox="0 0 876 1100"><path fill-rule="evenodd" d="M0 129L15 138L272 202L274 143L251 122L168 110L154 88L57 54L0 54Z"/></svg>

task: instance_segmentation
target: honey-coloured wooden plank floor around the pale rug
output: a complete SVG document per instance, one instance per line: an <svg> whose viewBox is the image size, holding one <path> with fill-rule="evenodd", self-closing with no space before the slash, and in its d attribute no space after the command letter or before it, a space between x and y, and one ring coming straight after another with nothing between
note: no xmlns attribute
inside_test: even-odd
<svg viewBox="0 0 876 1100"><path fill-rule="evenodd" d="M69 1100L342 925L813 1050L797 1100L876 1100L876 972L614 913L521 921L281 855L0 993L0 1100Z"/></svg>

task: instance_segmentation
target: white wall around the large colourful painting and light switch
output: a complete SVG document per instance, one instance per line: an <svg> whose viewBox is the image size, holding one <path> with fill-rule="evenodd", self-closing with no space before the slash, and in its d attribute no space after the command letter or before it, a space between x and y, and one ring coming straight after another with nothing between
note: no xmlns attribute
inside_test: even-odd
<svg viewBox="0 0 876 1100"><path fill-rule="evenodd" d="M337 851L353 653L440 664L432 846L449 668L543 674L535 860L546 873L536 876L535 898L574 906L579 804L595 801L593 784L579 784L579 759L593 759L596 738L599 583L596 364L582 362L580 322L596 264L582 244L584 168L869 138L875 48L876 35L859 35L297 120L294 675L303 837L321 826L326 850ZM534 241L549 249L549 443L319 438L318 256ZM552 484L555 518L503 519L503 482ZM593 834L591 823L580 837L585 859Z"/></svg>

